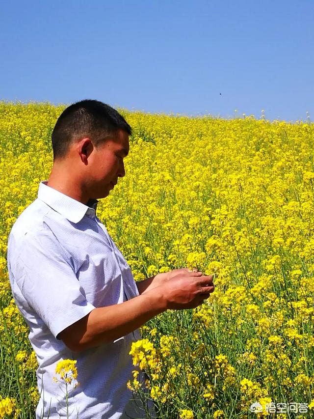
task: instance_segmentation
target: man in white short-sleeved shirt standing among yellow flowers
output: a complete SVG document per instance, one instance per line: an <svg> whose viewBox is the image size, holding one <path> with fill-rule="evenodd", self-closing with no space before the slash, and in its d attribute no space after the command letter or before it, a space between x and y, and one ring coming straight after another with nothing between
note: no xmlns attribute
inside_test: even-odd
<svg viewBox="0 0 314 419"><path fill-rule="evenodd" d="M212 278L179 269L135 283L96 217L97 199L125 175L131 127L114 109L84 100L52 132L53 167L14 224L8 270L39 363L38 418L138 418L127 389L138 328L166 309L197 307ZM77 360L79 386L62 393L55 366Z"/></svg>

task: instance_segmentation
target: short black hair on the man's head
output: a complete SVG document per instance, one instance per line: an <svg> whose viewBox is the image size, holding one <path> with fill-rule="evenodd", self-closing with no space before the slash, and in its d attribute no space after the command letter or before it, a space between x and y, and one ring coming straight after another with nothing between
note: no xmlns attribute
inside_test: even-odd
<svg viewBox="0 0 314 419"><path fill-rule="evenodd" d="M97 147L118 130L129 135L132 132L124 117L111 106L90 99L74 103L61 113L53 128L53 160L65 157L75 140L89 137Z"/></svg>

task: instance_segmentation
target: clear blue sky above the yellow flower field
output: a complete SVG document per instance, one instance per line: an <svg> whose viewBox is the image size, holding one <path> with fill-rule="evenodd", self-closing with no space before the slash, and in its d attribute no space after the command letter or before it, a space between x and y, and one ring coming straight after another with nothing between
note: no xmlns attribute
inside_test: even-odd
<svg viewBox="0 0 314 419"><path fill-rule="evenodd" d="M1 1L0 40L0 100L314 120L313 0Z"/></svg>

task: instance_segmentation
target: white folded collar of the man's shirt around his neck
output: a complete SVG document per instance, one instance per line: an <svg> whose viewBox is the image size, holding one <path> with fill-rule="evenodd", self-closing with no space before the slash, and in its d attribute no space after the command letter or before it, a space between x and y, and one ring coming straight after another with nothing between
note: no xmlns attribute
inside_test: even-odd
<svg viewBox="0 0 314 419"><path fill-rule="evenodd" d="M64 195L56 189L47 186L48 181L42 181L38 188L38 198L49 205L54 211L61 214L71 223L78 223L84 215L95 216L97 199L89 199L87 205Z"/></svg>

